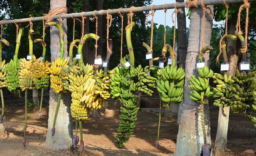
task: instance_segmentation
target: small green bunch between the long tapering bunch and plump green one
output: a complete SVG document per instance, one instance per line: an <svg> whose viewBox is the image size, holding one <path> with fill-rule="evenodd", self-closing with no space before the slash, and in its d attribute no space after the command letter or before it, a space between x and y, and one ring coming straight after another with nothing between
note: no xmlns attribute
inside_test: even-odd
<svg viewBox="0 0 256 156"><path fill-rule="evenodd" d="M147 95L152 96L153 95L153 91L154 89L156 89L156 80L157 80L157 70L158 70L158 66L152 66L150 67L150 70L148 69L149 66L146 66L144 68L144 72L140 72L138 74L139 77L139 81L140 81L140 87L138 88L138 90L146 93ZM151 74L152 76L151 76Z"/></svg>

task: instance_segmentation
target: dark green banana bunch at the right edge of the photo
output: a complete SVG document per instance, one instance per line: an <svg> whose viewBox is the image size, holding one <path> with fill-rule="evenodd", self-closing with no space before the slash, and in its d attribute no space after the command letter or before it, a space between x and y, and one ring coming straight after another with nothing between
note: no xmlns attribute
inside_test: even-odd
<svg viewBox="0 0 256 156"><path fill-rule="evenodd" d="M242 74L239 70L236 70L236 76L233 76L232 79L234 83L228 87L229 92L231 92L233 98L230 103L231 109L234 113L243 112L247 117L250 118L250 109L253 104L253 91L255 90L254 79L255 71L248 74ZM256 80L255 80L256 81Z"/></svg>

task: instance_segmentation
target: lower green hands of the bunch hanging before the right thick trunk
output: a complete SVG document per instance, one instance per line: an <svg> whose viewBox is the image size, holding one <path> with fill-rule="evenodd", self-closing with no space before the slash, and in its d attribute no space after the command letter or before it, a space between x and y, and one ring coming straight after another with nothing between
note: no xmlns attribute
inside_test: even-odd
<svg viewBox="0 0 256 156"><path fill-rule="evenodd" d="M211 91L211 85L209 84L206 78L198 77L196 78L194 75L190 76L189 88L190 91L190 100L197 103L207 103L205 98L210 98L213 96L214 92Z"/></svg>

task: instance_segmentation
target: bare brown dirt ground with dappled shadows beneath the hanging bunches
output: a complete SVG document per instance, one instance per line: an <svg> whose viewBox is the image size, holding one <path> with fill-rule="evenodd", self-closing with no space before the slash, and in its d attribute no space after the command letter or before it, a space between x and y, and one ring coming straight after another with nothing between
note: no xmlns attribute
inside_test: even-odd
<svg viewBox="0 0 256 156"><path fill-rule="evenodd" d="M6 98L8 99L8 98ZM6 100L5 100L6 101ZM48 107L42 108L42 118L38 119L38 111L28 111L28 127L26 135L26 148L24 148L23 134L25 125L25 108L18 106L20 101L7 101L4 118L4 126L8 135L0 137L0 156L30 156L30 155L87 155L87 156L167 156L173 155L176 147L178 133L177 117L162 117L158 148L155 148L157 141L158 116L151 113L138 111L135 121L136 127L132 137L125 143L123 149L114 146L118 124L120 119L104 117L102 119L89 118L83 120L83 141L84 152L81 154L79 144L76 149L48 151L44 149L47 133ZM2 111L2 109L0 109ZM217 131L218 109L210 110L211 120L211 141L212 148ZM75 121L73 120L73 123ZM75 132L75 124L73 124ZM224 155L252 156L252 153L242 153L245 150L255 150L256 128L253 122L247 120L243 114L230 114L228 129L229 153ZM79 136L80 138L80 136ZM223 155L223 156L224 156Z"/></svg>

